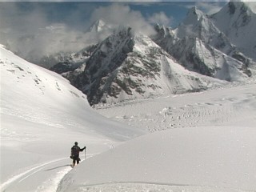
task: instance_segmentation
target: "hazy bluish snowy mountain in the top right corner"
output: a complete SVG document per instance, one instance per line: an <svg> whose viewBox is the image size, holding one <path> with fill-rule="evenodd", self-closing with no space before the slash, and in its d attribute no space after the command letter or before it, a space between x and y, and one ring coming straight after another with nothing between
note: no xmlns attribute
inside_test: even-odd
<svg viewBox="0 0 256 192"><path fill-rule="evenodd" d="M244 2L229 2L211 21L243 54L256 61L256 14Z"/></svg>

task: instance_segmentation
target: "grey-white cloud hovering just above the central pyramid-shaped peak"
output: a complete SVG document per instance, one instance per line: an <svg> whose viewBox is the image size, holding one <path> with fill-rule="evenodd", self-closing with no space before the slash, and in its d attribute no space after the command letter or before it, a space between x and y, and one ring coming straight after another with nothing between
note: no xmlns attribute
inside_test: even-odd
<svg viewBox="0 0 256 192"><path fill-rule="evenodd" d="M146 18L143 18L141 12L130 10L130 6L114 3L110 6L101 6L94 10L90 20L92 22L103 19L111 25L130 26L135 31L142 34L153 34L154 29Z"/></svg>

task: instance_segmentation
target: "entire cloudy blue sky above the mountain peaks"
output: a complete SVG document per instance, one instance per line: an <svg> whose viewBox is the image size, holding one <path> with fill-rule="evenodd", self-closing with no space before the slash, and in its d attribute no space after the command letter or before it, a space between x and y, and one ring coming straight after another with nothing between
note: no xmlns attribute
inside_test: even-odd
<svg viewBox="0 0 256 192"><path fill-rule="evenodd" d="M10 46L14 52L22 52L20 56L23 58L38 53L58 52L60 47L64 51L79 50L86 43L93 42L84 34L98 19L111 24L129 25L134 30L144 30L146 34L151 34L152 24L156 22L172 28L178 26L193 6L206 14L214 14L226 3L0 0L0 43ZM250 2L252 9L256 7L255 4ZM81 42L81 45L75 42Z"/></svg>

